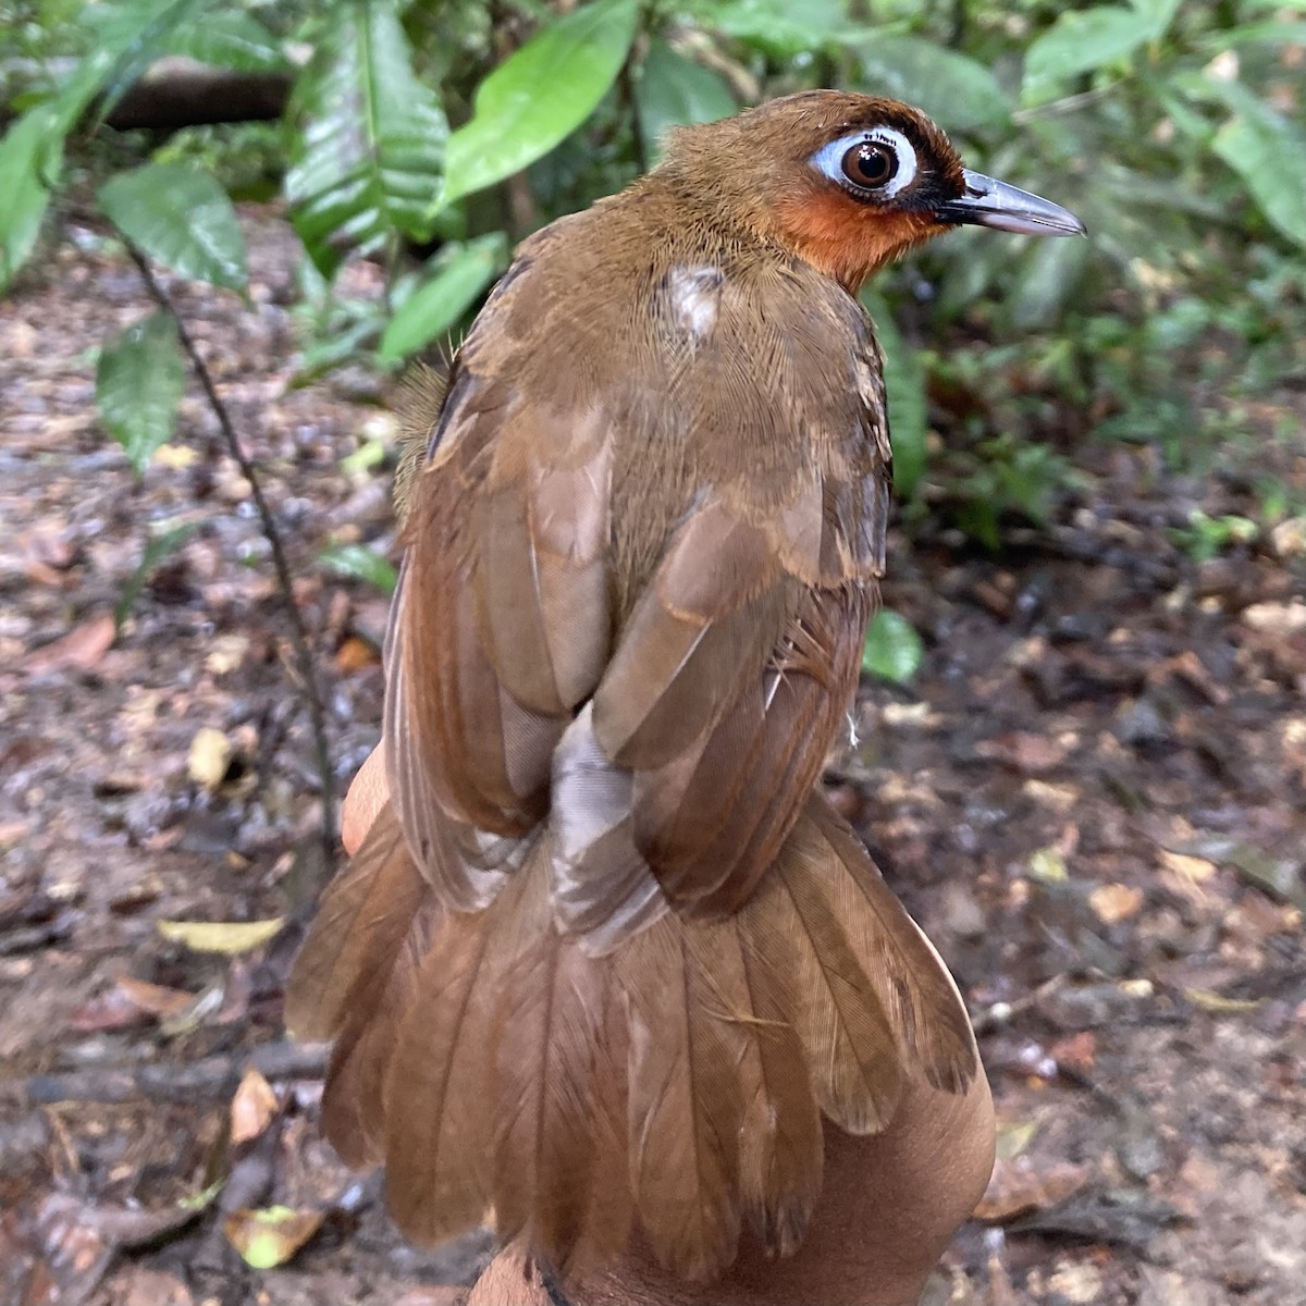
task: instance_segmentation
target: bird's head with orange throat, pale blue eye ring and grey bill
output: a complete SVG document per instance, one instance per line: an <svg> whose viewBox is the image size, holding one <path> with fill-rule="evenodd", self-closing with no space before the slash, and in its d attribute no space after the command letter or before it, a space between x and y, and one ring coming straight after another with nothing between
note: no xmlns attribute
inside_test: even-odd
<svg viewBox="0 0 1306 1306"><path fill-rule="evenodd" d="M818 90L671 137L660 172L857 290L876 268L963 223L1083 235L1067 209L963 167L908 104Z"/></svg>

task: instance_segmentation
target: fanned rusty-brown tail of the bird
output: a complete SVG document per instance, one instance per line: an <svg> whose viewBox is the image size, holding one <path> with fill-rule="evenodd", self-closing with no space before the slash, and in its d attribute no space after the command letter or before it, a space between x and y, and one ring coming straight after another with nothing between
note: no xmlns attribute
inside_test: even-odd
<svg viewBox="0 0 1306 1306"><path fill-rule="evenodd" d="M733 917L669 912L602 956L559 929L547 846L487 909L445 910L387 810L291 983L295 1029L337 1040L328 1134L384 1157L415 1241L492 1204L563 1276L615 1258L633 1220L684 1277L729 1266L744 1220L786 1255L821 1111L875 1132L908 1077L976 1075L947 970L823 798Z"/></svg>

